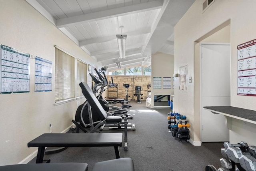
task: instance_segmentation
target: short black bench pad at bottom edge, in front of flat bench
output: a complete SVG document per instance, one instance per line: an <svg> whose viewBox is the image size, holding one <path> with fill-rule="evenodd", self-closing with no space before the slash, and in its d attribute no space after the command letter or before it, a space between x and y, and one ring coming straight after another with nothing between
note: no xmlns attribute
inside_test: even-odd
<svg viewBox="0 0 256 171"><path fill-rule="evenodd" d="M120 158L108 161L101 161L94 165L92 171L134 171L131 158Z"/></svg>

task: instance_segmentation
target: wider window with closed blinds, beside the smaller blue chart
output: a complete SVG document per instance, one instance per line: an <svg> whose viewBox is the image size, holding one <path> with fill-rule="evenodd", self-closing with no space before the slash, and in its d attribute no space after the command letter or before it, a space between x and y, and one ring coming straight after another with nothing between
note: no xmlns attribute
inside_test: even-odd
<svg viewBox="0 0 256 171"><path fill-rule="evenodd" d="M75 58L55 48L55 102L75 97Z"/></svg>

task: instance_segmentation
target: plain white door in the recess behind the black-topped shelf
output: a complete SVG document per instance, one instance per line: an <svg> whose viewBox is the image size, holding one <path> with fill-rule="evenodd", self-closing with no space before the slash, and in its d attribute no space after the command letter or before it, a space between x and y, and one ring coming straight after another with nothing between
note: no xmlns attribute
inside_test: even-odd
<svg viewBox="0 0 256 171"><path fill-rule="evenodd" d="M230 44L201 44L202 106L230 106ZM225 117L201 108L202 142L229 141Z"/></svg>

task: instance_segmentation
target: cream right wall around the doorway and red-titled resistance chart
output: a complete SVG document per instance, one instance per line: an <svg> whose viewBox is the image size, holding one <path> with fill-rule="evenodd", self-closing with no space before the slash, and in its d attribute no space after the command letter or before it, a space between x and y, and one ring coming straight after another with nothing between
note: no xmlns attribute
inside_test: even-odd
<svg viewBox="0 0 256 171"><path fill-rule="evenodd" d="M212 30L230 20L230 43L231 43L231 105L245 109L256 110L256 98L237 95L237 48L238 44L253 40L256 38L256 1L243 0L217 0L202 14L202 0L196 0L182 19L176 24L174 29L174 72L178 73L178 68L188 64L188 75L196 78L197 68L200 66L195 59L194 50L195 41L204 37ZM195 112L194 95L200 91L198 86L195 87L195 80L188 84L188 91L174 90L175 93L175 110L187 115L190 120L190 132L192 141L200 140L200 129L198 115ZM176 82L175 84L178 84ZM197 82L198 84L198 82ZM177 87L177 86L176 86ZM186 105L184 105L186 104ZM195 118L195 119L194 119ZM235 122L240 121L234 121ZM255 129L256 125L247 127L246 123L238 124L230 131L230 142L238 143L247 141L252 145L256 142ZM240 127L241 126L241 127ZM252 129L254 127L254 129ZM250 129L249 129L250 128ZM242 131L244 134L242 135ZM245 133L246 130L246 133ZM240 135L240 136L237 136Z"/></svg>

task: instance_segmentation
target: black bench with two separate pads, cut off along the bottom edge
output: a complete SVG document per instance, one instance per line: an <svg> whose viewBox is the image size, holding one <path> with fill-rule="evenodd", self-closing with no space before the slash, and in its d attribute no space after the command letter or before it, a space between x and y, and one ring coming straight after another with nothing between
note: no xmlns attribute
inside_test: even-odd
<svg viewBox="0 0 256 171"><path fill-rule="evenodd" d="M101 161L92 171L134 171L131 158ZM40 163L0 166L0 171L88 171L86 163Z"/></svg>

